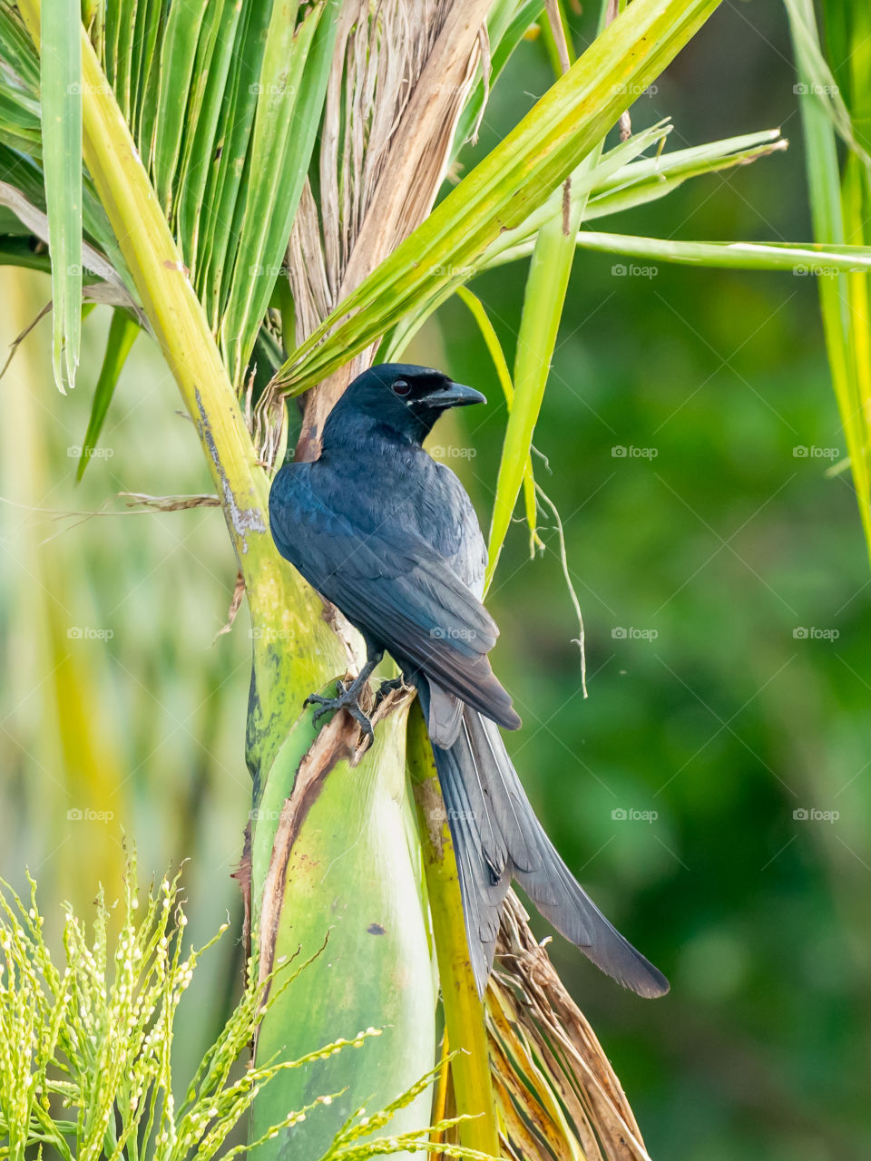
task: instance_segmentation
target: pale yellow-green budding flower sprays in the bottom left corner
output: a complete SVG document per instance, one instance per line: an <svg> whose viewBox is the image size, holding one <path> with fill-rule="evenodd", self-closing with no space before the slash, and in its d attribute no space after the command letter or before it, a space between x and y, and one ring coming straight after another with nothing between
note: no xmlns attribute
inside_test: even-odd
<svg viewBox="0 0 871 1161"><path fill-rule="evenodd" d="M370 1027L298 1060L239 1068L269 1004L309 966L291 971L291 964L281 964L266 983L253 975L249 979L195 1075L180 1089L173 1077L179 1004L200 958L228 924L204 946L186 953L180 874L164 877L141 897L131 857L120 904L108 904L99 890L89 938L84 921L66 904L60 966L45 943L36 882L28 881L27 902L8 885L0 888L0 1156L9 1161L36 1156L45 1147L65 1161L208 1161L218 1152L235 1156L249 1146L232 1145L228 1138L279 1073L341 1052L365 1052L379 1034ZM413 1146L431 1130L374 1140L373 1134L386 1128L429 1080L422 1077L380 1112L367 1116L365 1109L357 1110L323 1161L352 1161ZM178 1102L177 1091L183 1091ZM287 1112L265 1138L317 1116L336 1096L324 1094ZM433 1127L444 1131L454 1124L445 1120ZM449 1155L473 1154L452 1148Z"/></svg>

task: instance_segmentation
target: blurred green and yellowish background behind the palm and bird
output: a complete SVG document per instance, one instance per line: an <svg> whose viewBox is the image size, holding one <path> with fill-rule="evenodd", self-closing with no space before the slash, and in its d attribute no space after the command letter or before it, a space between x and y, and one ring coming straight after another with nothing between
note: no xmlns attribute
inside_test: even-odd
<svg viewBox="0 0 871 1161"><path fill-rule="evenodd" d="M577 31L580 46L583 21ZM523 45L467 164L549 78L541 46ZM791 149L613 228L809 239L793 84L779 6L725 5L638 101L634 125L670 114L675 149L779 124ZM535 562L512 531L490 606L533 802L672 991L645 1003L559 938L552 951L654 1156L868 1158L871 579L849 473L826 476L843 440L816 288L789 274L620 273L629 265L578 253L535 437L584 612L589 700L547 518ZM524 279L518 264L473 286L509 354ZM50 290L9 269L0 284L5 347ZM0 873L21 886L29 866L50 916L62 899L87 910L99 879L117 888L125 832L147 873L190 859L203 940L228 911L240 929L230 872L250 806L247 615L215 641L235 582L217 510L143 513L116 497L209 489L146 339L102 455L74 483L107 327L98 308L70 397L52 385L48 322L2 381ZM490 397L433 439L487 525L505 411L465 308L442 308L408 356ZM204 960L177 1041L189 1061L240 962L229 936Z"/></svg>

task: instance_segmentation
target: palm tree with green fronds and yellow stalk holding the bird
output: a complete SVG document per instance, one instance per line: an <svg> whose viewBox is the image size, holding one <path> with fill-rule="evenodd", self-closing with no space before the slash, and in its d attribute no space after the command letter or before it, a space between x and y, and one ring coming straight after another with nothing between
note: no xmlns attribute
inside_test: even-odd
<svg viewBox="0 0 871 1161"><path fill-rule="evenodd" d="M617 1079L513 897L501 933L509 966L478 1000L416 706L386 700L369 749L345 715L316 729L304 712L309 692L358 669L360 642L280 558L266 513L291 401L295 454L314 456L353 375L376 355L399 355L456 294L511 409L492 576L520 492L533 545L547 503L530 448L577 247L763 269L808 253L580 229L784 147L777 131L675 151L664 150L668 122L632 132L627 107L715 7L604 2L598 35L575 59L557 0L0 6L0 202L15 216L3 219L0 253L51 269L62 390L75 378L82 302L115 310L82 470L143 330L196 425L247 599L247 935L261 980L310 960L271 1004L257 1057L297 1059L380 1031L363 1052L314 1061L264 1090L253 1139L288 1109L337 1095L258 1155L288 1147L317 1158L363 1102L383 1106L427 1077L396 1112L397 1132L455 1112L469 1119L446 1148L456 1139L491 1155L646 1156ZM533 29L553 86L442 196L491 87ZM620 140L606 149L618 121ZM812 252L827 266L871 266L866 251L825 240L835 245ZM510 368L467 283L526 257ZM431 1082L439 997L446 1034Z"/></svg>

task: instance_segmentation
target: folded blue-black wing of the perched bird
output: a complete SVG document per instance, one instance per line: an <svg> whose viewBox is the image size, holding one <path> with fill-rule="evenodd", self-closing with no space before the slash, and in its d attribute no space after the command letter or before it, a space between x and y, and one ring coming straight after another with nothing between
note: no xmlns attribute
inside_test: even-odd
<svg viewBox="0 0 871 1161"><path fill-rule="evenodd" d="M420 535L393 525L358 529L298 488L282 490L271 515L282 555L353 625L487 717L520 724L487 658L496 622Z"/></svg>

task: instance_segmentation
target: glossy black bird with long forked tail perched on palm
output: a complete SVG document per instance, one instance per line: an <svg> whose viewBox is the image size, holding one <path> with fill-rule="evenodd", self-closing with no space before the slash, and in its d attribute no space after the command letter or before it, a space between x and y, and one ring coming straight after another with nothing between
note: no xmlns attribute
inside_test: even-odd
<svg viewBox="0 0 871 1161"><path fill-rule="evenodd" d="M519 728L489 652L487 546L459 477L423 442L452 408L485 403L429 367L380 363L358 375L327 416L321 455L288 461L269 491L278 550L362 634L366 663L315 716L346 709L372 726L360 694L384 652L426 719L456 856L478 994L492 967L512 880L559 932L641 996L665 976L605 918L545 832L501 729Z"/></svg>

